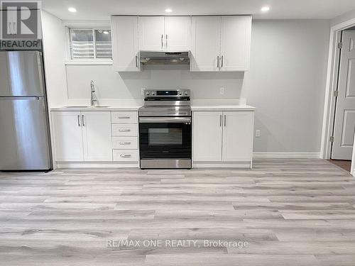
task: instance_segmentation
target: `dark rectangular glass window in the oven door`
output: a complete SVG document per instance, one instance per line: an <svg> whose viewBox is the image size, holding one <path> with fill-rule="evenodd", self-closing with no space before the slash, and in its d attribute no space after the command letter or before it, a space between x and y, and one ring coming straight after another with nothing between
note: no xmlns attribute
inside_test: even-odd
<svg viewBox="0 0 355 266"><path fill-rule="evenodd" d="M182 128L148 128L148 145L182 145Z"/></svg>

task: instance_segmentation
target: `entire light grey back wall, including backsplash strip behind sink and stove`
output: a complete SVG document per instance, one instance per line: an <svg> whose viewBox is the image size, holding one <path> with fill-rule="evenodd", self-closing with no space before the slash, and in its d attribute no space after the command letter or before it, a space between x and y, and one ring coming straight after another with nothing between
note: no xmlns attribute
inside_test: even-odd
<svg viewBox="0 0 355 266"><path fill-rule="evenodd" d="M247 98L256 106L258 153L319 153L329 45L329 21L253 21L251 70L191 73L144 70L114 73L111 65L67 65L69 99L141 99L141 88L189 88L194 99ZM224 87L225 94L219 94Z"/></svg>

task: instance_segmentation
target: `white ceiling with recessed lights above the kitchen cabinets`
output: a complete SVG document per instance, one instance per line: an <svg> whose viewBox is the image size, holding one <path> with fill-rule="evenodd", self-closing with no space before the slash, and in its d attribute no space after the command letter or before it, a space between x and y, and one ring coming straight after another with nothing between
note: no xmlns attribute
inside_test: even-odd
<svg viewBox="0 0 355 266"><path fill-rule="evenodd" d="M354 0L42 0L62 19L108 20L110 15L252 14L254 18L334 18L355 9ZM270 6L268 13L260 11ZM77 13L67 11L75 7Z"/></svg>

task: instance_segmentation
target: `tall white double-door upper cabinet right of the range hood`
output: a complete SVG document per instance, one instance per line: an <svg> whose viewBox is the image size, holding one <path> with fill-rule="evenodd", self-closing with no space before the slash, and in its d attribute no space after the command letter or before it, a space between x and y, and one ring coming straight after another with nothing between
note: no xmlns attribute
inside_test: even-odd
<svg viewBox="0 0 355 266"><path fill-rule="evenodd" d="M249 70L251 16L192 17L191 71Z"/></svg>

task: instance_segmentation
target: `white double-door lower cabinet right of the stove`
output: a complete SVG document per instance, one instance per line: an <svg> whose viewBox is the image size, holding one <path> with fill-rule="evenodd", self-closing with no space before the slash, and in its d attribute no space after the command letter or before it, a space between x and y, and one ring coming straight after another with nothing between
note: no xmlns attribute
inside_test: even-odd
<svg viewBox="0 0 355 266"><path fill-rule="evenodd" d="M195 167L251 167L253 111L194 111Z"/></svg>

